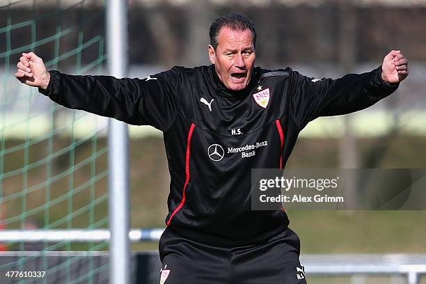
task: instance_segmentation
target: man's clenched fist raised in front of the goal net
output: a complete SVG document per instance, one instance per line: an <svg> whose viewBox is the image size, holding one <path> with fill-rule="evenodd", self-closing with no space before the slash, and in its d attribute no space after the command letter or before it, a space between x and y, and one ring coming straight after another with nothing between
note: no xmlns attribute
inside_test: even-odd
<svg viewBox="0 0 426 284"><path fill-rule="evenodd" d="M23 53L19 58L15 77L28 86L43 90L47 88L50 81L50 74L47 72L45 63L33 52Z"/></svg>

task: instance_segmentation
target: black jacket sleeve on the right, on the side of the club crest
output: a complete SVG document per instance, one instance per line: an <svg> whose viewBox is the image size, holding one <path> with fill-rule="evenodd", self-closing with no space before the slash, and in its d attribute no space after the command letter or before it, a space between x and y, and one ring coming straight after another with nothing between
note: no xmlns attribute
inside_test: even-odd
<svg viewBox="0 0 426 284"><path fill-rule="evenodd" d="M381 67L340 79L321 80L290 71L290 112L299 129L319 116L338 116L366 109L393 93L399 84L381 79Z"/></svg>

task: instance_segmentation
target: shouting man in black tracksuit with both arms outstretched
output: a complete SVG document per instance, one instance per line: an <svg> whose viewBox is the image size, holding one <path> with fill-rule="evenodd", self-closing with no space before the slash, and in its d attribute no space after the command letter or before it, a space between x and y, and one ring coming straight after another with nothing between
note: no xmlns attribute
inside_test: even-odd
<svg viewBox="0 0 426 284"><path fill-rule="evenodd" d="M337 80L254 68L255 42L253 23L232 14L210 28L210 66L115 79L47 72L33 53L17 64L17 79L58 104L164 132L161 283L306 283L284 210L251 210L251 168L284 168L310 120L365 109L408 75L395 50L376 70Z"/></svg>

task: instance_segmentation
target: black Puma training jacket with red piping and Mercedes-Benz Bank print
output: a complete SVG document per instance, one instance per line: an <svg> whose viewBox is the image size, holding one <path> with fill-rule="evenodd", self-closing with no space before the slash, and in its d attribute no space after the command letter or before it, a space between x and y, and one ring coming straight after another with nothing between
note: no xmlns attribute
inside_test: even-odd
<svg viewBox="0 0 426 284"><path fill-rule="evenodd" d="M40 92L54 102L164 132L166 225L223 246L263 242L289 224L284 210L251 210L251 168L284 168L310 120L365 109L397 88L384 83L381 68L320 80L291 68L253 68L240 91L228 90L214 65L145 79L50 74Z"/></svg>

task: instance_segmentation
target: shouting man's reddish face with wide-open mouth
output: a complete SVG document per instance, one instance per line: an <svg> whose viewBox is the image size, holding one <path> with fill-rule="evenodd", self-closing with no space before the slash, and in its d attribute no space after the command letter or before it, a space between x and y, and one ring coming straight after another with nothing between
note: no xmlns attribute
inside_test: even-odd
<svg viewBox="0 0 426 284"><path fill-rule="evenodd" d="M226 88L246 88L256 58L253 33L250 29L236 31L224 26L219 32L216 50L209 45L209 58Z"/></svg>

